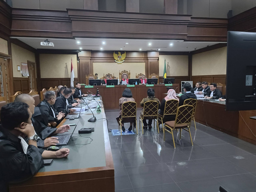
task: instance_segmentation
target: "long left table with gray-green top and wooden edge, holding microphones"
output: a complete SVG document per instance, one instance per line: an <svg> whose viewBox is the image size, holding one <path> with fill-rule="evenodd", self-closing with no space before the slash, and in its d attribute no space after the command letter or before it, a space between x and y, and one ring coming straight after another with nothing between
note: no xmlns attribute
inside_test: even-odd
<svg viewBox="0 0 256 192"><path fill-rule="evenodd" d="M94 111L96 122L88 122L92 113L80 114L75 120L63 120L62 124L73 124L67 147L68 158L54 159L50 166L44 166L26 182L12 184L10 192L114 192L114 165L104 109L100 114ZM90 134L78 134L81 128L94 127ZM90 138L93 140L91 141ZM91 141L91 143L90 143ZM90 144L89 144L90 143Z"/></svg>

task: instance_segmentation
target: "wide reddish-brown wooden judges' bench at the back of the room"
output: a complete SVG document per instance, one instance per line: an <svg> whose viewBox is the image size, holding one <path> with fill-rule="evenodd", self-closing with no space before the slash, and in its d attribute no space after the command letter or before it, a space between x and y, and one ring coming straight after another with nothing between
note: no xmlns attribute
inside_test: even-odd
<svg viewBox="0 0 256 192"><path fill-rule="evenodd" d="M176 89L176 92L180 92L180 84L172 84L172 87ZM100 95L104 103L105 109L118 109L118 101L122 97L122 93L125 88L130 88L132 90L132 97L137 103L137 108L140 107L140 102L143 98L146 98L148 88L153 88L155 90L155 96L162 101L166 96L164 93L167 93L167 88L164 84L157 84L153 87L147 87L146 85L135 85L134 87L127 87L126 85L115 85L115 87L106 87L106 86L93 86L93 88L84 88L82 86L82 92L86 94L89 90L96 94L97 88L99 89Z"/></svg>

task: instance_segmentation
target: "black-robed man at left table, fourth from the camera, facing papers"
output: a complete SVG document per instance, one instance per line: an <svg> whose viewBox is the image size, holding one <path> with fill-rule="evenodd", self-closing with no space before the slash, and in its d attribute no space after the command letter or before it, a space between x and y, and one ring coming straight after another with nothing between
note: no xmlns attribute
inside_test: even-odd
<svg viewBox="0 0 256 192"><path fill-rule="evenodd" d="M72 108L72 106L78 105L78 103L73 103L72 105L69 105L68 98L71 96L71 94L72 94L72 90L70 88L66 88L63 91L63 94L61 94L60 97L56 98L54 108L57 110L57 112L62 112L65 114L65 116L69 112L71 113L75 112L74 109L70 109L70 108Z"/></svg>

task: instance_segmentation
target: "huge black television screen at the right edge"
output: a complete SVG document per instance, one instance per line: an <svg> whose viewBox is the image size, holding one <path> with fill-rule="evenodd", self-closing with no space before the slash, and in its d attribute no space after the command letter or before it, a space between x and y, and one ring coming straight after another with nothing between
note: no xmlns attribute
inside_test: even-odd
<svg viewBox="0 0 256 192"><path fill-rule="evenodd" d="M256 109L256 33L228 32L226 110Z"/></svg>

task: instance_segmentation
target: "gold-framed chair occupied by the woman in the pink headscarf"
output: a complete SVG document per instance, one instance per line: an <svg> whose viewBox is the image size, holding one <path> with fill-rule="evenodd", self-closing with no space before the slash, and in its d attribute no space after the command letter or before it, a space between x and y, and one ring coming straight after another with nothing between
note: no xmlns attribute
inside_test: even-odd
<svg viewBox="0 0 256 192"><path fill-rule="evenodd" d="M160 120L162 123L163 132L164 132L164 122L163 122L164 117L170 116L170 115L176 115L178 105L179 105L179 101L176 99L167 100L164 104L164 114L161 115L158 113L158 120Z"/></svg>

